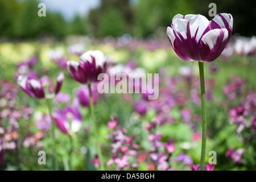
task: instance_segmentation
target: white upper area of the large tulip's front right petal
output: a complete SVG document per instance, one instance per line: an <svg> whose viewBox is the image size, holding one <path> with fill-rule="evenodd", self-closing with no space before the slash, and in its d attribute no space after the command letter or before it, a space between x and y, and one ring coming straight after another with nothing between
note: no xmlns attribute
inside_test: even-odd
<svg viewBox="0 0 256 182"><path fill-rule="evenodd" d="M216 44L216 41L218 39L218 36L220 36L221 31L224 31L224 38L222 40L224 42L224 40L228 39L228 36L229 36L228 30L226 30L226 28L221 28L221 29L216 28L216 29L210 30L203 36L201 41L204 44L207 44L210 49L212 49Z"/></svg>

